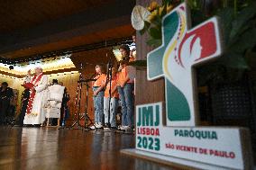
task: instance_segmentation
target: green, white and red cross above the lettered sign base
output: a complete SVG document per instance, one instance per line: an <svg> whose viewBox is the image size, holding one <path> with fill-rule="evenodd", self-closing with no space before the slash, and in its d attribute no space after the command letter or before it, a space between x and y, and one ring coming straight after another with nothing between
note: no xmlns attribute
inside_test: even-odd
<svg viewBox="0 0 256 170"><path fill-rule="evenodd" d="M221 53L216 18L189 30L186 4L162 21L162 45L148 54L148 79L165 78L168 126L195 126L192 67Z"/></svg>

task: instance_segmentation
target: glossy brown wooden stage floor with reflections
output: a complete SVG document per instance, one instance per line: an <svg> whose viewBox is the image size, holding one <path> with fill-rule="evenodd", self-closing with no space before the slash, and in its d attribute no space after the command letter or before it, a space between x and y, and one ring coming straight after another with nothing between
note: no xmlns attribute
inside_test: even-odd
<svg viewBox="0 0 256 170"><path fill-rule="evenodd" d="M134 143L132 134L0 127L0 169L176 169L120 153Z"/></svg>

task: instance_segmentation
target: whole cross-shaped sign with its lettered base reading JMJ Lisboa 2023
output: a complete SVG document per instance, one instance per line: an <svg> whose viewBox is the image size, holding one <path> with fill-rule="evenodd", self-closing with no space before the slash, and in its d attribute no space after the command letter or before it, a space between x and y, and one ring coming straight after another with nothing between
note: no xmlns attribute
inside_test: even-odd
<svg viewBox="0 0 256 170"><path fill-rule="evenodd" d="M166 99L164 105L136 106L134 153L204 169L251 168L250 142L244 144L247 130L197 127L193 67L220 56L222 50L216 18L190 30L187 19L185 3L167 14L162 45L148 54L148 79L165 79Z"/></svg>

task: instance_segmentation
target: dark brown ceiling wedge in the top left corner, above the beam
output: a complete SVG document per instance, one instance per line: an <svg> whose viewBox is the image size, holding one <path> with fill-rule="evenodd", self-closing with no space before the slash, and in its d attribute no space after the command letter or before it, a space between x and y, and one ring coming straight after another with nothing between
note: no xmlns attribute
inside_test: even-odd
<svg viewBox="0 0 256 170"><path fill-rule="evenodd" d="M113 0L1 0L0 33L27 29Z"/></svg>

